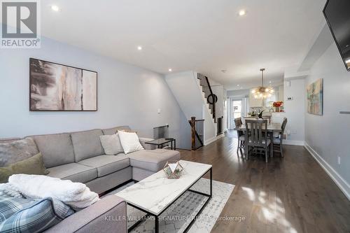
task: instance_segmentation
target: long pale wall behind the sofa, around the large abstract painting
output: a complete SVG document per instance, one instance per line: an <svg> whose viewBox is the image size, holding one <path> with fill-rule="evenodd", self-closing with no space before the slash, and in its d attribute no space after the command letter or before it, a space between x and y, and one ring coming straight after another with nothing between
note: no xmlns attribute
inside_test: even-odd
<svg viewBox="0 0 350 233"><path fill-rule="evenodd" d="M29 57L97 71L98 111L30 112ZM0 51L0 138L117 125L152 136L153 127L165 124L179 147L190 148L187 119L158 73L48 38L42 38L40 49Z"/></svg>

